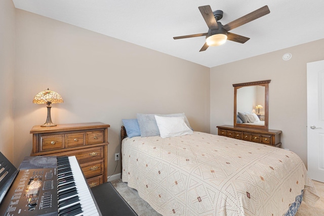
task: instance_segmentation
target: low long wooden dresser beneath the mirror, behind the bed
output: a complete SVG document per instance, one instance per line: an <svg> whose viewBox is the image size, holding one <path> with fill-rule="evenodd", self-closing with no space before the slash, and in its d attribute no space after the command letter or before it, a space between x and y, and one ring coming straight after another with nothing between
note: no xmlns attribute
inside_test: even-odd
<svg viewBox="0 0 324 216"><path fill-rule="evenodd" d="M246 127L234 127L233 125L221 125L218 127L218 135L239 140L252 141L265 145L280 147L282 131L274 129L255 129Z"/></svg>

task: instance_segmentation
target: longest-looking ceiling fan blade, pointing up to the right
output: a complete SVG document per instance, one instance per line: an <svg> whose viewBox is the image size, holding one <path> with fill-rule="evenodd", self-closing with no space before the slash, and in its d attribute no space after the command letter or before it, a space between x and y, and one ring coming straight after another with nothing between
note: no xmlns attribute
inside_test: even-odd
<svg viewBox="0 0 324 216"><path fill-rule="evenodd" d="M237 28L238 26L244 25L244 24L251 22L255 19L263 17L264 15L267 15L269 13L270 13L270 10L269 10L268 6L263 6L262 8L259 8L258 10L251 12L250 14L247 14L245 16L242 16L242 17L230 22L230 23L227 23L226 25L223 26L223 28L226 31L229 31L234 28Z"/></svg>

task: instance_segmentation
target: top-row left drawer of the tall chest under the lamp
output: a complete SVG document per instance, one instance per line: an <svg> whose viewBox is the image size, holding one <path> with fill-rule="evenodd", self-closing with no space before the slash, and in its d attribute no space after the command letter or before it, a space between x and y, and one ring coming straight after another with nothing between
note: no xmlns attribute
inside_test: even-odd
<svg viewBox="0 0 324 216"><path fill-rule="evenodd" d="M39 151L50 151L64 148L64 135L41 136Z"/></svg>

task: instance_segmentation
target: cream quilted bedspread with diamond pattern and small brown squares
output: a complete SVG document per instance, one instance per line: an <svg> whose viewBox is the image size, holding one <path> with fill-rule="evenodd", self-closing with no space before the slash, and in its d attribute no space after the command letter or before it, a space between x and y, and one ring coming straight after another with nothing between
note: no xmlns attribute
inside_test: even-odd
<svg viewBox="0 0 324 216"><path fill-rule="evenodd" d="M123 182L163 215L283 215L319 197L294 152L194 132L123 140Z"/></svg>

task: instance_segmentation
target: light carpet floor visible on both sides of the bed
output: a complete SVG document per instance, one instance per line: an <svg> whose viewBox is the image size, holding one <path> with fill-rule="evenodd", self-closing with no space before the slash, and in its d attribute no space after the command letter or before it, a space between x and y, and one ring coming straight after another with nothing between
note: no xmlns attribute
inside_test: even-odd
<svg viewBox="0 0 324 216"><path fill-rule="evenodd" d="M320 199L314 206L302 202L296 216L319 216L324 215L324 183L313 181ZM137 190L127 186L127 183L117 179L111 182L118 193L130 204L139 216L157 216L157 213L146 201L139 197Z"/></svg>

